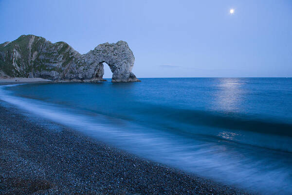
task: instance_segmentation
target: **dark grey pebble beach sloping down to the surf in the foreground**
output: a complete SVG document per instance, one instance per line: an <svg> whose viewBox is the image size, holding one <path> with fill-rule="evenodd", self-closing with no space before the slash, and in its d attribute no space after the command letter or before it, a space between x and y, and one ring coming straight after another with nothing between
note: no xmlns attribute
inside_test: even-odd
<svg viewBox="0 0 292 195"><path fill-rule="evenodd" d="M247 194L128 154L0 101L0 194ZM59 128L55 128L59 126Z"/></svg>

